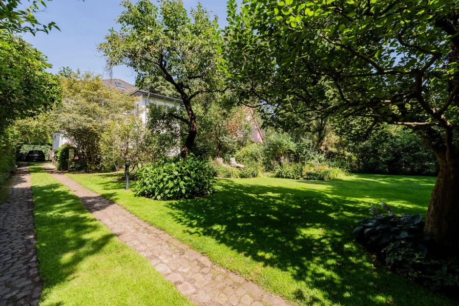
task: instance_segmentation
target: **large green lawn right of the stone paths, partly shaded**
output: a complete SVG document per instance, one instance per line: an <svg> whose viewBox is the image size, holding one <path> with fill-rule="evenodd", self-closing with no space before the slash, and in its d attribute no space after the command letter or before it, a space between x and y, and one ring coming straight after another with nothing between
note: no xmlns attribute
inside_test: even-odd
<svg viewBox="0 0 459 306"><path fill-rule="evenodd" d="M221 266L298 304L450 303L378 266L351 233L358 219L369 216L369 205L381 201L397 213L425 214L433 177L218 179L211 196L154 201L124 191L114 174L69 176Z"/></svg>

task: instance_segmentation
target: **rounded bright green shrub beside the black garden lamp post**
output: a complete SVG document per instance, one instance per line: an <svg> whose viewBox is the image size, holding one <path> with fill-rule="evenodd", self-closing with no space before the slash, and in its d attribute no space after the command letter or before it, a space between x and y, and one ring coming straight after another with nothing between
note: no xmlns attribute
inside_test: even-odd
<svg viewBox="0 0 459 306"><path fill-rule="evenodd" d="M214 191L214 169L193 154L139 167L136 176L135 193L157 200L194 198Z"/></svg>

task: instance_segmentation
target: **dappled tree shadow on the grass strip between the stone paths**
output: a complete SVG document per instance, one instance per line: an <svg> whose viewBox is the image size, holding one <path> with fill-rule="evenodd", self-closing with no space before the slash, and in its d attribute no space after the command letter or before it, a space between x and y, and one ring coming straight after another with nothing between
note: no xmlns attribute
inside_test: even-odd
<svg viewBox="0 0 459 306"><path fill-rule="evenodd" d="M101 230L98 221L80 203L75 203L79 201L75 195L59 189L60 183L33 186L38 260L44 280L42 302L55 287L77 276L83 260L115 239L111 233L94 235Z"/></svg>

